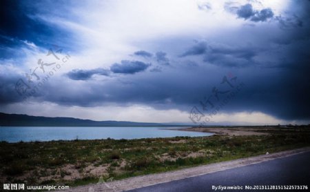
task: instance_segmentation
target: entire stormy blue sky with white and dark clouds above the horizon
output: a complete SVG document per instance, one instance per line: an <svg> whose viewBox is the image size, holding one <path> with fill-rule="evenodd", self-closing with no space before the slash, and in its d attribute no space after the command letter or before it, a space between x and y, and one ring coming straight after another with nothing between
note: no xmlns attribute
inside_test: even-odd
<svg viewBox="0 0 310 192"><path fill-rule="evenodd" d="M0 112L309 124L310 1L1 1Z"/></svg>

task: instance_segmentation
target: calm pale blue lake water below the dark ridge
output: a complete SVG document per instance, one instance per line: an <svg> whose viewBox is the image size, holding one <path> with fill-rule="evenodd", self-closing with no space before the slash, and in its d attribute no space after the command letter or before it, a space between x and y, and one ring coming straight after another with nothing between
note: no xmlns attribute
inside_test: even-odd
<svg viewBox="0 0 310 192"><path fill-rule="evenodd" d="M192 131L165 130L177 127L134 127L134 126L4 126L0 127L0 141L7 142L30 142L30 141L52 141L52 140L100 140L110 137L120 139L141 139L154 137L176 137L210 136L213 133L200 133ZM178 127L180 128L180 127Z"/></svg>

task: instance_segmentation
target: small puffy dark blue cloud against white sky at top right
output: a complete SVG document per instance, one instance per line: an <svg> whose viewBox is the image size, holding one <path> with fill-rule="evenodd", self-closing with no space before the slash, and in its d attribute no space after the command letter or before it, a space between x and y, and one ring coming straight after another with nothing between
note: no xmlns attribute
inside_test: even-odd
<svg viewBox="0 0 310 192"><path fill-rule="evenodd" d="M273 18L273 11L270 8L265 8L262 10L254 10L252 5L247 3L244 6L236 7L225 4L225 9L229 12L235 12L238 18L249 19L250 21L259 22L267 21L267 19Z"/></svg>

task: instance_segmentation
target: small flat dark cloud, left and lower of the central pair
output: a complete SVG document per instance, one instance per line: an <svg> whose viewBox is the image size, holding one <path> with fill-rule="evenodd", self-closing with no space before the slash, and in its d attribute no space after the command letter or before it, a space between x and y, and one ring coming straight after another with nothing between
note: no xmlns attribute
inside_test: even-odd
<svg viewBox="0 0 310 192"><path fill-rule="evenodd" d="M79 70L74 69L67 73L68 77L72 80L87 80L92 77L92 75L109 75L109 70L105 70L103 68L96 68L92 70Z"/></svg>

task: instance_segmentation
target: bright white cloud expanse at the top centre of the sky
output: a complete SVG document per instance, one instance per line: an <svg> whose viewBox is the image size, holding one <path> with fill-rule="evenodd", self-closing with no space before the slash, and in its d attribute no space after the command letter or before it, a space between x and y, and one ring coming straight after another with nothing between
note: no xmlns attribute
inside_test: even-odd
<svg viewBox="0 0 310 192"><path fill-rule="evenodd" d="M242 21L225 12L223 3L214 2L213 7L213 12L204 12L192 0L87 1L72 7L75 17L32 18L72 32L81 45L79 55L72 58L74 68L87 69L109 67L148 42L184 36L192 39L241 25Z"/></svg>

